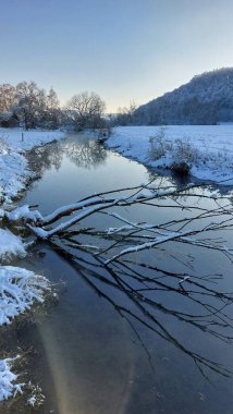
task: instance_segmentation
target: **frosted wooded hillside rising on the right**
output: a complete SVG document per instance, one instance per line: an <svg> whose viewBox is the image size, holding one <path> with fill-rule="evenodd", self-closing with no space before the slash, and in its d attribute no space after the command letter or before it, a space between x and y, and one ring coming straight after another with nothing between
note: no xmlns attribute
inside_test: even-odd
<svg viewBox="0 0 233 414"><path fill-rule="evenodd" d="M144 125L219 122L233 122L233 68L194 76L187 84L134 112L134 123Z"/></svg>

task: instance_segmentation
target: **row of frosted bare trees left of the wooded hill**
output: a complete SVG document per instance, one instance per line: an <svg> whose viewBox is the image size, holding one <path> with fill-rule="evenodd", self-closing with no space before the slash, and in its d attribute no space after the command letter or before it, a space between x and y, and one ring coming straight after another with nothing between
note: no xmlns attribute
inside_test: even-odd
<svg viewBox="0 0 233 414"><path fill-rule="evenodd" d="M60 107L57 93L39 88L35 82L21 82L16 86L0 85L0 125L56 130L60 126L74 130L103 129L105 102L95 93L74 95L68 105Z"/></svg>

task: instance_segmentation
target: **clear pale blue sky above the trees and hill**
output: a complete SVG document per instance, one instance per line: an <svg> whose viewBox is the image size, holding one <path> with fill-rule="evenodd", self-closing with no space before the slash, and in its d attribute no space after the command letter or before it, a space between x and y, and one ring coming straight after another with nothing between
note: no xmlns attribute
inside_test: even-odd
<svg viewBox="0 0 233 414"><path fill-rule="evenodd" d="M145 104L233 66L232 21L233 0L0 0L0 83Z"/></svg>

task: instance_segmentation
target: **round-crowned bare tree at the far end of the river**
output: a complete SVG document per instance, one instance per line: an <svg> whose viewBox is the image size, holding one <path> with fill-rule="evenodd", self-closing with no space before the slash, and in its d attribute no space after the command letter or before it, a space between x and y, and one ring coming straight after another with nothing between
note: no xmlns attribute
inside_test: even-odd
<svg viewBox="0 0 233 414"><path fill-rule="evenodd" d="M105 109L106 105L99 95L94 92L84 92L71 98L68 102L66 114L69 122L77 131L85 127L98 129L105 124L102 119Z"/></svg>

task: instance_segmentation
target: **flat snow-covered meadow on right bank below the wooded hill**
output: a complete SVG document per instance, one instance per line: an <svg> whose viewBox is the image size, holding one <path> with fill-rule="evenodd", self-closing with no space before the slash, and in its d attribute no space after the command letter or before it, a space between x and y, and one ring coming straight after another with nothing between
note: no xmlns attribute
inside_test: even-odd
<svg viewBox="0 0 233 414"><path fill-rule="evenodd" d="M158 148L158 158L155 151L152 156L151 137L163 146L161 151ZM119 126L107 145L148 167L165 168L175 161L179 142L194 153L194 176L214 182L230 180L228 184L233 184L233 125Z"/></svg>

